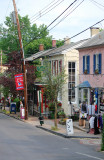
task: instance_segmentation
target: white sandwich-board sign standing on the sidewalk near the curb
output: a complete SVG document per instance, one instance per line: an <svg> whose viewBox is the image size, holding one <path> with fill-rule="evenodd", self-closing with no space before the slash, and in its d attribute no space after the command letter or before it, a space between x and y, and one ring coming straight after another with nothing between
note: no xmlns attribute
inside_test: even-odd
<svg viewBox="0 0 104 160"><path fill-rule="evenodd" d="M68 135L74 133L74 131L73 131L73 122L72 122L72 119L67 119L67 120L66 120L66 129L67 129L67 134L68 134Z"/></svg>

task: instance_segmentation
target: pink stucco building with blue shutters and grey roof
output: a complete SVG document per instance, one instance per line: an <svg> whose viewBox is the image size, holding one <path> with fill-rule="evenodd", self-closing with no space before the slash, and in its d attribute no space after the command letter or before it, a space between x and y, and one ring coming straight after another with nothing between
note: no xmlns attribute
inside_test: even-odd
<svg viewBox="0 0 104 160"><path fill-rule="evenodd" d="M104 31L91 37L79 50L79 100L97 105L97 112L104 110Z"/></svg>

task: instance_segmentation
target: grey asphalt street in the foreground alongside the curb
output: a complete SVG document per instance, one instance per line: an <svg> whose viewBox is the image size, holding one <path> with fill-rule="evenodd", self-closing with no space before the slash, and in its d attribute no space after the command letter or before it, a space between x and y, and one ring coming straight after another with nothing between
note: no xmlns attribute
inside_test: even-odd
<svg viewBox="0 0 104 160"><path fill-rule="evenodd" d="M0 160L104 160L95 145L80 142L0 113Z"/></svg>

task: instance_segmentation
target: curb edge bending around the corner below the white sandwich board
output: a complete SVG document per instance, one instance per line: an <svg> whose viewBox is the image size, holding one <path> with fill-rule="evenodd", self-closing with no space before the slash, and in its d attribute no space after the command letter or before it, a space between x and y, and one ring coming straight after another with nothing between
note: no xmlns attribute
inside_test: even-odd
<svg viewBox="0 0 104 160"><path fill-rule="evenodd" d="M40 128L44 131L47 131L47 132L50 132L50 133L53 133L55 135L58 135L60 137L63 137L63 138L89 138L89 139L100 139L100 137L86 137L86 136L68 136L68 135L65 135L65 134L62 134L62 133L59 133L59 132L55 132L55 131L52 131L50 129L47 129L47 128L44 128L42 126L36 126L37 128Z"/></svg>

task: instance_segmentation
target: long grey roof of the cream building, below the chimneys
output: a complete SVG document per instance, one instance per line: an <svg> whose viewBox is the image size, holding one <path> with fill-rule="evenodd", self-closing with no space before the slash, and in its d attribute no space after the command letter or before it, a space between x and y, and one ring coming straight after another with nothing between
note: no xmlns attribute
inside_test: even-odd
<svg viewBox="0 0 104 160"><path fill-rule="evenodd" d="M70 44L64 44L63 46L61 46L59 48L52 48L52 49L48 49L45 51L40 51L40 52L37 52L37 53L33 54L32 56L26 58L25 61L33 61L37 58L41 58L41 57L45 57L45 56L55 56L55 55L64 54L64 51L75 49L75 48L79 47L80 45L82 45L85 41L86 41L86 39L80 40L78 42L72 42Z"/></svg>

